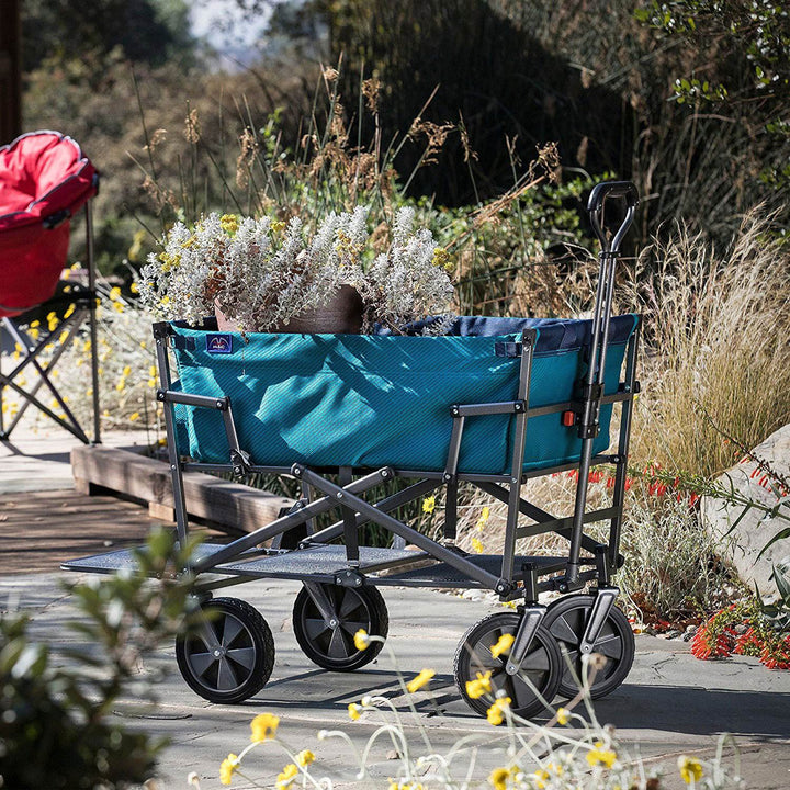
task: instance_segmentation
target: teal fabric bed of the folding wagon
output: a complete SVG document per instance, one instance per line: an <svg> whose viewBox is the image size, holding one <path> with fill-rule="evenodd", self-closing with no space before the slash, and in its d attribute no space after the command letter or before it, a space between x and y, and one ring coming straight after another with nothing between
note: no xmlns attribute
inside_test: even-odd
<svg viewBox="0 0 790 790"><path fill-rule="evenodd" d="M605 394L617 391L636 316L611 319ZM578 398L591 321L462 317L450 334L278 335L174 326L183 392L229 396L239 445L257 465L393 466L441 471L453 404L516 398L524 329L537 331L530 408ZM603 405L594 452L609 445L612 406ZM459 472L510 469L514 415L486 415L465 427ZM217 411L179 405L179 447L202 463L226 463ZM577 461L582 448L562 415L530 418L524 471Z"/></svg>

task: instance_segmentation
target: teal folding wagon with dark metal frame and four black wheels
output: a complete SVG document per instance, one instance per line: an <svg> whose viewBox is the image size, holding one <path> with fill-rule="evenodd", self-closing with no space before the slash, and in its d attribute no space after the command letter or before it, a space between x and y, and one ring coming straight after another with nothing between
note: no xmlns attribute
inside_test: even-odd
<svg viewBox="0 0 790 790"><path fill-rule="evenodd" d="M624 206L614 233L602 223L608 199ZM189 529L184 471L287 475L302 490L272 523L226 545L204 544L193 558L200 605L214 618L200 635L177 643L192 689L216 702L261 691L274 659L266 620L245 601L212 598L212 591L267 577L302 582L294 633L326 669L358 669L381 650L381 642L362 650L354 641L360 629L386 636L380 587L477 587L519 606L481 620L461 640L455 677L476 711L490 704L467 693L466 682L478 674L490 673L492 693L503 690L524 718L557 695L575 696L583 656L594 652L606 664L592 697L623 681L634 644L614 606L611 576L622 564L641 321L612 316L611 302L636 203L628 182L599 184L590 195L602 251L589 319L461 317L442 336L417 334L425 326L363 336L242 335L218 331L211 321L155 325L179 540ZM610 501L589 509L596 464L613 470ZM572 514L556 516L524 498L529 478L568 470L578 473ZM455 544L460 484L507 505L500 554ZM393 515L438 492L445 503L439 539ZM316 519L331 511L336 520L318 528ZM585 532L601 521L609 523L607 541ZM385 546L360 545L368 524L387 537ZM564 538L567 553L519 553L519 541L543 532ZM105 572L123 565L126 554L66 567ZM212 582L201 589L203 574ZM539 595L549 590L563 595L545 607ZM492 652L497 644L504 650Z"/></svg>

